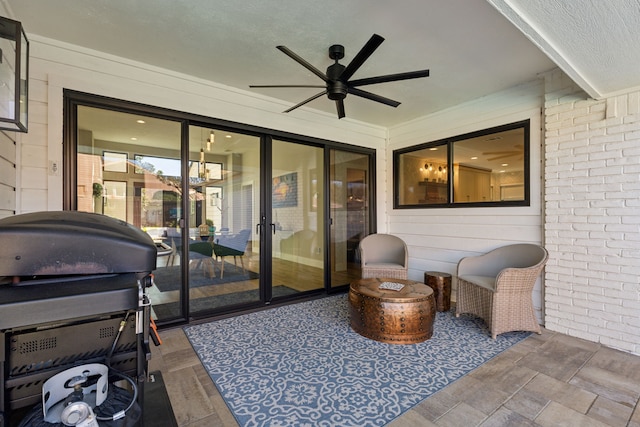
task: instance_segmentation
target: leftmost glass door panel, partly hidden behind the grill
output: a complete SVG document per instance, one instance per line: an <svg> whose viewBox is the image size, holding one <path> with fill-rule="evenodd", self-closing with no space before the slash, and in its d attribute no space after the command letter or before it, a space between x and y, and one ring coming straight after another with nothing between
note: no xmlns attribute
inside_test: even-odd
<svg viewBox="0 0 640 427"><path fill-rule="evenodd" d="M156 242L148 294L159 320L183 317L180 146L179 121L78 106L77 210L128 222Z"/></svg>

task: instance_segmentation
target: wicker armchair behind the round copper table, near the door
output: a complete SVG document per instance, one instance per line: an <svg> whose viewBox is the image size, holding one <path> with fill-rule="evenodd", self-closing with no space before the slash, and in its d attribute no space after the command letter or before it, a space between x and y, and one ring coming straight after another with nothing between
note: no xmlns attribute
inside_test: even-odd
<svg viewBox="0 0 640 427"><path fill-rule="evenodd" d="M388 277L406 279L407 245L391 234L370 234L360 242L362 278Z"/></svg>

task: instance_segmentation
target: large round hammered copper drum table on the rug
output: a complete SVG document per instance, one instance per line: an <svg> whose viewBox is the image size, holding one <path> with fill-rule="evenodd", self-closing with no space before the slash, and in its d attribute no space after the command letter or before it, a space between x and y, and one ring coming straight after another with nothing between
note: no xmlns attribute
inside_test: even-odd
<svg viewBox="0 0 640 427"><path fill-rule="evenodd" d="M381 289L385 284L400 290ZM351 328L372 340L414 344L431 338L436 314L433 289L413 280L371 278L349 286Z"/></svg>

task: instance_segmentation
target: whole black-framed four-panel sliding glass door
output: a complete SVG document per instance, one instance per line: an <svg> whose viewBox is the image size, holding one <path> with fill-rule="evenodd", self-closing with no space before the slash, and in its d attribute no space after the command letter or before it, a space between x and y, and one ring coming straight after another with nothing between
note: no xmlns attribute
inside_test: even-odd
<svg viewBox="0 0 640 427"><path fill-rule="evenodd" d="M86 94L68 98L65 111L73 132L64 208L149 234L158 322L329 292L359 277L372 152Z"/></svg>

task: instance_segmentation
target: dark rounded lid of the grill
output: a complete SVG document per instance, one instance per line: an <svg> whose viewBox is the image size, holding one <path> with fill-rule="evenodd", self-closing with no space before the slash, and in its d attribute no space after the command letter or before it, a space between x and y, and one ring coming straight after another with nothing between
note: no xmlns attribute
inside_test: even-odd
<svg viewBox="0 0 640 427"><path fill-rule="evenodd" d="M0 276L151 272L156 246L105 215L46 211L0 219Z"/></svg>

